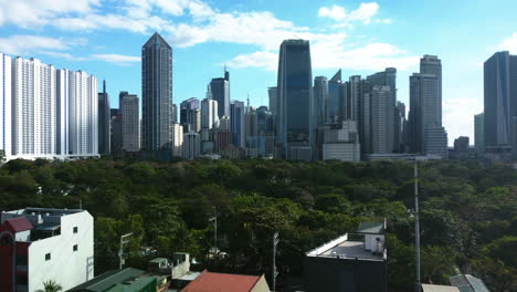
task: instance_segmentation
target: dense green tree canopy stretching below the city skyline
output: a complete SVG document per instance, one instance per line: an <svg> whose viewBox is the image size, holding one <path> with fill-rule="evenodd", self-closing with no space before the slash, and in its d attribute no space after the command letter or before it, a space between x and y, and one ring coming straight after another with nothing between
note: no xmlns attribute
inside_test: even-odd
<svg viewBox="0 0 517 292"><path fill-rule="evenodd" d="M0 209L78 208L95 217L95 271L118 264L119 236L133 232L127 264L145 268L141 247L186 251L214 271L271 274L281 234L279 286L302 275L305 252L360 221L388 219L390 291L414 278L413 170L408 161L87 159L11 160L0 168ZM420 164L422 280L457 271L495 292L517 290L517 171L477 161ZM218 248L209 257L218 217ZM150 257L150 255L149 255Z"/></svg>

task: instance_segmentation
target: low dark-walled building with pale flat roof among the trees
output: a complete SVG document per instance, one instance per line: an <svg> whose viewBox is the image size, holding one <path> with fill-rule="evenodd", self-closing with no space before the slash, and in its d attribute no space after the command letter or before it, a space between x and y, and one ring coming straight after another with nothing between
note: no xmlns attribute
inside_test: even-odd
<svg viewBox="0 0 517 292"><path fill-rule="evenodd" d="M356 233L309 251L304 259L307 291L386 292L384 230L386 222L362 222Z"/></svg>

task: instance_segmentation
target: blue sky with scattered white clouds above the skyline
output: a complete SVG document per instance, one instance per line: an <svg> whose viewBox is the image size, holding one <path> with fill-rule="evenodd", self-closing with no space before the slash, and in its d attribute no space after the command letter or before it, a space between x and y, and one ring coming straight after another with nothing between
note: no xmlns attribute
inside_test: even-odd
<svg viewBox="0 0 517 292"><path fill-rule="evenodd" d="M483 111L483 62L517 53L515 0L0 0L0 52L84 70L140 96L140 50L158 31L173 48L173 102L204 97L231 73L231 98L267 104L282 40L308 39L313 76L398 69L398 98L423 54L443 65L443 123L450 144L471 136Z"/></svg>

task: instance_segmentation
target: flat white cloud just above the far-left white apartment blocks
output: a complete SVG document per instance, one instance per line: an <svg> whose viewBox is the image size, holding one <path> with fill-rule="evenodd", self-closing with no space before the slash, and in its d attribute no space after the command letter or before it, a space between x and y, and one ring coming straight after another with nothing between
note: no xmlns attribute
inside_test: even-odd
<svg viewBox="0 0 517 292"><path fill-rule="evenodd" d="M40 50L68 50L70 44L61 39L38 36L38 35L11 35L0 39L0 52L23 55L34 53Z"/></svg>

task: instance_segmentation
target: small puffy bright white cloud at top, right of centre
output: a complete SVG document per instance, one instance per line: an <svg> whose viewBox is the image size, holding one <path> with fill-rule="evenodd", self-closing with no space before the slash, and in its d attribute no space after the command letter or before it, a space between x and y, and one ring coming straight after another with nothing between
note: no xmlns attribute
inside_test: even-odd
<svg viewBox="0 0 517 292"><path fill-rule="evenodd" d="M340 6L333 6L330 8L321 7L318 10L318 17L333 19L340 22L342 25L349 25L351 22L368 24L372 21L377 12L379 12L379 9L380 7L376 2L361 3L358 9L350 12Z"/></svg>

